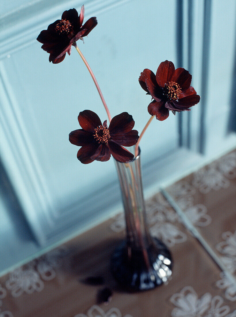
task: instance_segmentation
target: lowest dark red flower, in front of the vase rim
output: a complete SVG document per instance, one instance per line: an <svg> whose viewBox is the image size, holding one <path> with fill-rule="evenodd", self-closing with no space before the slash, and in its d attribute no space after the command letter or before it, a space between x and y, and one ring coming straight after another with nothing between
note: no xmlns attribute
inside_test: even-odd
<svg viewBox="0 0 236 317"><path fill-rule="evenodd" d="M82 129L72 131L69 141L82 146L77 158L83 164L96 161L108 161L112 156L119 162L130 162L134 159L131 152L123 146L132 146L137 143L138 132L134 127L133 117L123 112L112 118L109 128L106 120L101 122L99 116L91 110L80 112L78 121Z"/></svg>

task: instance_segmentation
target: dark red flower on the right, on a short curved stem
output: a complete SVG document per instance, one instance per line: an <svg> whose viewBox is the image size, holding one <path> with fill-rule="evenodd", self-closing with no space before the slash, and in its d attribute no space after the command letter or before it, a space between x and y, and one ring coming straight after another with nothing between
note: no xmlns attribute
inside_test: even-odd
<svg viewBox="0 0 236 317"><path fill-rule="evenodd" d="M163 61L155 74L144 69L138 81L141 87L154 99L148 105L150 115L163 121L168 118L169 110L190 111L190 107L200 101L195 89L190 86L192 75L184 68L175 69L171 61Z"/></svg>

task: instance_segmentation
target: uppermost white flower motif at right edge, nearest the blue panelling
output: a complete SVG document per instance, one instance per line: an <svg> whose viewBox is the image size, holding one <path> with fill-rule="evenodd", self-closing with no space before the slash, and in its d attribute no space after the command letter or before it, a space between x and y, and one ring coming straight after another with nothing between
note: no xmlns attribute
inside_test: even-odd
<svg viewBox="0 0 236 317"><path fill-rule="evenodd" d="M236 177L236 152L229 153L216 161L218 169L227 177Z"/></svg>

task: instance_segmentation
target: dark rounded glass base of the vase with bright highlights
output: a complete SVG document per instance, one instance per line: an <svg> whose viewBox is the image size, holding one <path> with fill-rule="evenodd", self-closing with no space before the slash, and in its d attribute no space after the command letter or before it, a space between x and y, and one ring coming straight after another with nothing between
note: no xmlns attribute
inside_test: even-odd
<svg viewBox="0 0 236 317"><path fill-rule="evenodd" d="M123 241L111 258L112 275L125 289L149 290L167 282L172 275L172 257L161 240L153 238L147 249L149 268L140 249L130 249L129 252L128 256L126 241Z"/></svg>

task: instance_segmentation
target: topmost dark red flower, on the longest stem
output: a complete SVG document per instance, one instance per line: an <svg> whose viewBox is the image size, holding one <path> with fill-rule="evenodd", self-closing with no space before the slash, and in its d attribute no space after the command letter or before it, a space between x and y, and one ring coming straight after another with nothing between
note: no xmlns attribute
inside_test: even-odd
<svg viewBox="0 0 236 317"><path fill-rule="evenodd" d="M98 24L96 17L92 17L82 25L84 20L84 6L80 16L75 9L64 11L61 20L56 20L48 26L47 30L41 31L37 40L43 43L42 49L47 51L49 61L58 64L64 60L66 52L70 55L71 45L89 32Z"/></svg>

